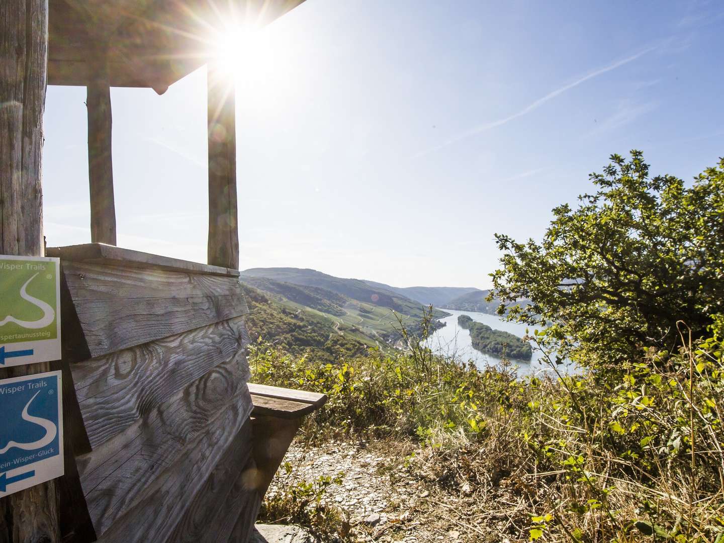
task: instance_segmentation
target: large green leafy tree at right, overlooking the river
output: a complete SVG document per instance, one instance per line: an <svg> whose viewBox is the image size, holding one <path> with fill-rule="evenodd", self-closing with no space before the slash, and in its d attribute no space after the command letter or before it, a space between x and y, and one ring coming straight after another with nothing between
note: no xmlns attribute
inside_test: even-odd
<svg viewBox="0 0 724 543"><path fill-rule="evenodd" d="M702 337L724 313L724 159L690 186L649 177L641 151L610 160L589 176L596 193L553 209L542 243L496 234L491 274L499 313L547 327L544 345L591 367L673 348L678 321Z"/></svg>

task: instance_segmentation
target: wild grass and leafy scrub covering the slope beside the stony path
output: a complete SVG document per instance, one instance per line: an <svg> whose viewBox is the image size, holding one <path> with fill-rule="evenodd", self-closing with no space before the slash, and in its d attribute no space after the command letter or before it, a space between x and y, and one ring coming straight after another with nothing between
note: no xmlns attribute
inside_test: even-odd
<svg viewBox="0 0 724 543"><path fill-rule="evenodd" d="M409 465L477 497L470 518L504 515L501 538L721 543L723 324L577 376L478 371L405 334L396 355L316 363L260 343L251 361L257 382L329 395L309 439L418 442Z"/></svg>

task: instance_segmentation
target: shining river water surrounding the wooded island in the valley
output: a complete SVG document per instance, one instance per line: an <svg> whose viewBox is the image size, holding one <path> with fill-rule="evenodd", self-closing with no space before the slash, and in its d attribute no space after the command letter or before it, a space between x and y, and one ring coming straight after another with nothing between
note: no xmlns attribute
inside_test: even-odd
<svg viewBox="0 0 724 543"><path fill-rule="evenodd" d="M435 330L431 337L429 337L429 346L435 352L441 355L447 355L455 357L460 361L472 360L479 369L484 369L487 366L496 366L501 363L500 358L494 355L481 353L479 350L473 349L473 345L470 340L470 332L464 328L458 326L458 316L467 315L473 321L487 324L492 329L503 330L504 332L510 332L518 337L526 335L526 325L517 322L508 322L501 319L497 315L489 315L487 313L476 313L476 311L456 311L455 309L442 309L452 315L440 319L441 322L445 323L445 326ZM529 327L529 333L533 335L533 328ZM544 355L533 348L533 357L531 361L511 360L511 362L518 366L518 375L530 375L540 374L542 372L553 373L550 365L544 358ZM562 364L559 366L561 373L566 373L566 365Z"/></svg>

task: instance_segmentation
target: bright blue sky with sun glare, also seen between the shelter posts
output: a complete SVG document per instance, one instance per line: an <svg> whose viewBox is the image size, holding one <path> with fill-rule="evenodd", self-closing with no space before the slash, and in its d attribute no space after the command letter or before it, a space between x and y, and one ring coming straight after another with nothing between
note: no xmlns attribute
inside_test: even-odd
<svg viewBox="0 0 724 543"><path fill-rule="evenodd" d="M307 0L235 59L240 267L487 287L610 153L724 155L724 4ZM48 244L90 241L85 88L49 87ZM118 244L206 261L206 72L114 88Z"/></svg>

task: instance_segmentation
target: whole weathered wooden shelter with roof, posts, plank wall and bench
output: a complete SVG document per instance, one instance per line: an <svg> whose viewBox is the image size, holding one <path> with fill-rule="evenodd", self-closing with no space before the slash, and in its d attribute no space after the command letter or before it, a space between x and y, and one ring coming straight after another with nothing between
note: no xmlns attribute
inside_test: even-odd
<svg viewBox="0 0 724 543"><path fill-rule="evenodd" d="M65 475L0 500L0 542L245 542L300 418L326 400L248 383L233 92L208 47L223 21L301 1L5 0L0 54L17 74L0 102L20 106L0 109L0 253L43 255L46 77L88 88L91 243L45 251L61 259ZM109 88L163 93L203 64L208 263L118 248Z"/></svg>

